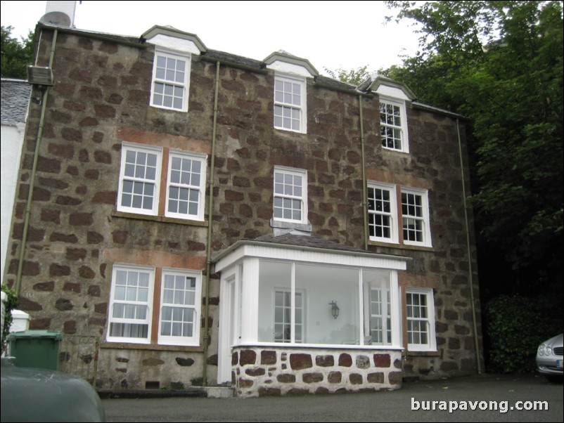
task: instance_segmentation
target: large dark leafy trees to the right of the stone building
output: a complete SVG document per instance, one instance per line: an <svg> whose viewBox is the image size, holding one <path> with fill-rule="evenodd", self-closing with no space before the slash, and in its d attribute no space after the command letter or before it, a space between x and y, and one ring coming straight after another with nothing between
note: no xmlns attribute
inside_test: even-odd
<svg viewBox="0 0 564 423"><path fill-rule="evenodd" d="M421 52L387 76L470 119L486 294L553 285L562 308L563 7L559 1L387 1Z"/></svg>

